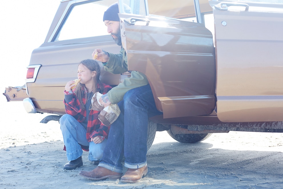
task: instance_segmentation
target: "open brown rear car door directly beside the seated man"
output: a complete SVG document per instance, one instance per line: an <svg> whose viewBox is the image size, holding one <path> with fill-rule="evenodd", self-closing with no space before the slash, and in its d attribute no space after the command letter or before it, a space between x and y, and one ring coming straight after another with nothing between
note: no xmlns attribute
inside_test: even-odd
<svg viewBox="0 0 283 189"><path fill-rule="evenodd" d="M148 15L147 1L127 2L119 1L119 16L128 69L147 76L163 118L211 114L215 108L212 33L200 23ZM123 13L123 3L132 14ZM159 9L165 4L161 1Z"/></svg>

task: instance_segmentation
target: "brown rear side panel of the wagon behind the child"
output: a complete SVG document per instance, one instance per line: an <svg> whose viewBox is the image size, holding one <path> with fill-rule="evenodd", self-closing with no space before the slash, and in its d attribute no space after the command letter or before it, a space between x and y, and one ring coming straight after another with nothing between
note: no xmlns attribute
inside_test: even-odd
<svg viewBox="0 0 283 189"><path fill-rule="evenodd" d="M62 100L66 83L77 78L78 63L91 59L93 50L102 46L108 52L118 53L120 50L110 36L98 36L43 43L32 52L30 65L42 65L35 82L27 83L29 97L35 107L41 109L38 111L50 113L56 107L56 113L65 114ZM122 79L121 75L111 74L103 68L101 72L102 82L109 85L118 85Z"/></svg>

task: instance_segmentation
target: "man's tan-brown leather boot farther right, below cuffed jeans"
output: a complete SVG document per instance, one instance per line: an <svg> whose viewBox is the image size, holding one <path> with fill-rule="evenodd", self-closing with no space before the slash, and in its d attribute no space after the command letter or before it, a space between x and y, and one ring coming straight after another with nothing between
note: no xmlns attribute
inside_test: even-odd
<svg viewBox="0 0 283 189"><path fill-rule="evenodd" d="M121 182L135 183L139 182L143 176L147 174L147 164L138 169L130 169L122 176Z"/></svg>

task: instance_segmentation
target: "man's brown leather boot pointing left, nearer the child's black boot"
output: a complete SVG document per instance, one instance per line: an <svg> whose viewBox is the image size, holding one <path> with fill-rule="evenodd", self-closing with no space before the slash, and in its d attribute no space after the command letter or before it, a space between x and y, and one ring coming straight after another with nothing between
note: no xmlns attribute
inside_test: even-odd
<svg viewBox="0 0 283 189"><path fill-rule="evenodd" d="M121 178L122 173L110 171L104 167L96 167L92 171L80 171L79 175L89 180L103 180L106 178L109 178L109 180L116 180Z"/></svg>

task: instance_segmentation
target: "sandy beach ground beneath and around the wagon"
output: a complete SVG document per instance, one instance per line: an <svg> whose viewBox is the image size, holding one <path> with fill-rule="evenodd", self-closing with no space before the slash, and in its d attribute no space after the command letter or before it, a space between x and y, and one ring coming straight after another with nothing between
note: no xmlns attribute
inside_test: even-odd
<svg viewBox="0 0 283 189"><path fill-rule="evenodd" d="M185 144L157 132L141 182L91 181L78 176L95 168L88 152L82 167L63 170L58 122L40 123L48 114L27 114L22 102L0 100L0 188L283 188L282 133L220 133Z"/></svg>

